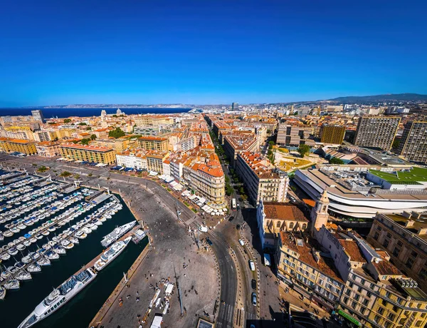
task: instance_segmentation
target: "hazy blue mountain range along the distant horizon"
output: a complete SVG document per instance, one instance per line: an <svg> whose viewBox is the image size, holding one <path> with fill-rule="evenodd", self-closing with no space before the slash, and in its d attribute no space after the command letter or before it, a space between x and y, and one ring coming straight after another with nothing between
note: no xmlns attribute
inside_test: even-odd
<svg viewBox="0 0 427 328"><path fill-rule="evenodd" d="M427 101L427 95L419 93L388 93L374 96L342 96L317 101L290 101L281 103L250 103L248 105L265 105L265 104L295 104L295 103L381 103L381 102L400 102L400 101ZM169 103L169 104L70 104L54 106L4 106L4 108L189 108L196 106L227 106L230 104L189 104L189 103ZM242 105L245 105L242 103Z"/></svg>

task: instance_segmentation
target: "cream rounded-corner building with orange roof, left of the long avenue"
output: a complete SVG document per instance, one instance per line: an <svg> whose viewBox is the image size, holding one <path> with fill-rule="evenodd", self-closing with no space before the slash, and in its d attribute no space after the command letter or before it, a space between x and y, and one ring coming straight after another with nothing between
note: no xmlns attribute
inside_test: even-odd
<svg viewBox="0 0 427 328"><path fill-rule="evenodd" d="M189 160L183 167L182 178L196 195L206 198L211 207L225 205L225 180L219 161L198 163Z"/></svg>

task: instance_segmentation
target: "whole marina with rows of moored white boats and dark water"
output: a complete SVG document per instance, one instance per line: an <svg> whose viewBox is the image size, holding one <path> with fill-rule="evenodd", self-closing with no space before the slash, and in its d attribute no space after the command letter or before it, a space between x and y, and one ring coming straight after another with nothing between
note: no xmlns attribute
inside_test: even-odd
<svg viewBox="0 0 427 328"><path fill-rule="evenodd" d="M3 299L0 312L14 312L14 316L6 319L4 327L19 327L28 314L35 311L38 302L52 292L53 286L60 286L68 279L73 280L72 277L78 275L82 267L93 270L96 275L88 289L107 285L114 289L122 272L129 268L147 245L146 241L138 245L130 242L135 241L135 237L133 230L127 229L124 234L117 236L117 241L110 243L107 250L102 247L102 236L109 235L117 227L127 226L127 223L131 223L132 228L136 223L130 210L115 195L48 178L5 171L0 171L0 183L0 299ZM9 197L11 193L14 193L14 198ZM30 199L16 202L16 198L28 197ZM7 203L9 200L14 202ZM134 230L140 230L139 225ZM132 256L120 256L121 253L129 252ZM95 269L96 262L98 269L102 270L101 275L100 270ZM117 267L120 267L118 272ZM107 281L106 275L109 278ZM59 280L60 277L62 280ZM104 280L102 285L98 285L99 280ZM79 294L69 304L54 314L50 313L46 319L43 317L35 326L59 325L58 322L68 317L73 309L82 307L81 303L84 302L76 303L76 299L81 301L80 295L86 292L86 288L81 293L79 290ZM79 314L68 317L60 326L85 327L109 292L107 289L97 292L99 299L91 294L90 307L93 307L93 312L88 313L86 322ZM17 307L19 312L16 312ZM83 308L85 312L88 311L86 306ZM75 320L81 321L77 323Z"/></svg>

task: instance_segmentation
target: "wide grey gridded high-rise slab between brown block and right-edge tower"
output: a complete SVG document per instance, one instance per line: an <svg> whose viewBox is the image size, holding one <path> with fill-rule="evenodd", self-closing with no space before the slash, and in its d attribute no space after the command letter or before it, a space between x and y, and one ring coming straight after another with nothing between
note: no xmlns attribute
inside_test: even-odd
<svg viewBox="0 0 427 328"><path fill-rule="evenodd" d="M400 121L401 118L395 116L361 116L354 145L390 150Z"/></svg>

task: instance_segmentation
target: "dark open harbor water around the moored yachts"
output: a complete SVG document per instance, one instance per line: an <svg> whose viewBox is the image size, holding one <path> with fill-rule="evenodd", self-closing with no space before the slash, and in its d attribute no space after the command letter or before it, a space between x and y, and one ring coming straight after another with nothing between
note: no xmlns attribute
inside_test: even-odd
<svg viewBox="0 0 427 328"><path fill-rule="evenodd" d="M50 266L42 267L41 272L32 273L32 280L21 282L21 287L16 290L8 290L6 298L0 301L0 327L16 328L30 314L33 309L46 297L53 288L58 287L71 275L80 270L85 264L99 255L104 247L100 244L102 237L112 232L119 225L135 220L132 212L127 208L125 203L120 199L123 208L110 220L106 220L97 230L93 231L73 249L67 250L66 255L61 255L58 260L51 260ZM106 200L109 202L110 200ZM100 205L103 205L102 202ZM98 207L94 207L96 210ZM86 213L85 215L93 212ZM58 215L60 212L58 212ZM80 220L80 217L77 219ZM64 226L64 229L67 226ZM4 230L4 229L2 229ZM13 240L15 236L8 238ZM6 238L4 242L7 243ZM4 245L4 242L0 242ZM126 249L108 265L104 270L98 273L97 277L79 294L71 299L67 304L43 319L33 327L61 327L61 328L80 328L88 327L90 320L93 319L97 311L102 307L111 292L123 277L123 272L127 272L135 262L138 255L147 246L147 237L135 245L130 242ZM24 252L25 254L26 252ZM19 260L21 254L14 258ZM4 265L6 265L4 261ZM13 265L15 260L7 261L8 265Z"/></svg>

